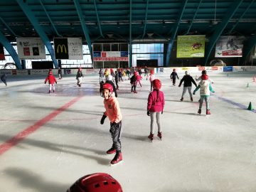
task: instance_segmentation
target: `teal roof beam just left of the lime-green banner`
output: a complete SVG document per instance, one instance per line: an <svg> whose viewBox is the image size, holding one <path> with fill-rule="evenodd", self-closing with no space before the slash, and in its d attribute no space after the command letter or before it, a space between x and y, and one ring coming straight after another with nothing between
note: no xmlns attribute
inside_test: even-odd
<svg viewBox="0 0 256 192"><path fill-rule="evenodd" d="M171 48L174 45L174 38L176 37L177 31L178 31L178 26L181 23L181 18L183 16L183 13L186 8L186 4L188 3L188 0L183 0L182 5L181 5L181 11L179 12L178 19L175 23L174 28L171 28L171 38L168 43L168 48L167 48L167 54L166 54L166 66L169 65L170 57L171 57Z"/></svg>

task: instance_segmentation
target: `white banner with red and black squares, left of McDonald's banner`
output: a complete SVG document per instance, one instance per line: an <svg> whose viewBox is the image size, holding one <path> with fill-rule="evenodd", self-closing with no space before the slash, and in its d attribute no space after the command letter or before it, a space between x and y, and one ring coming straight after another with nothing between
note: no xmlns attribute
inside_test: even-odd
<svg viewBox="0 0 256 192"><path fill-rule="evenodd" d="M45 59L46 48L41 38L16 38L19 59Z"/></svg>

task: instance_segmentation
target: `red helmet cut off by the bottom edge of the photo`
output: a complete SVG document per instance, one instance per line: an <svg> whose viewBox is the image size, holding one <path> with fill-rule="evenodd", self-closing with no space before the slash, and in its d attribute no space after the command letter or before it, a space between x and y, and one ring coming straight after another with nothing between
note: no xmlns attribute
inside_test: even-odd
<svg viewBox="0 0 256 192"><path fill-rule="evenodd" d="M67 192L122 192L117 180L109 174L97 173L83 176Z"/></svg>

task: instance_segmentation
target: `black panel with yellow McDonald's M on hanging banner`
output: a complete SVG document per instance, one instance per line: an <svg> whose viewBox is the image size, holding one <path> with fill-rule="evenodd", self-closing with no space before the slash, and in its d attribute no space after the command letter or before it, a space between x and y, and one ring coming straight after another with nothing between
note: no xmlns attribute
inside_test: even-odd
<svg viewBox="0 0 256 192"><path fill-rule="evenodd" d="M55 59L68 59L68 38L54 38Z"/></svg>

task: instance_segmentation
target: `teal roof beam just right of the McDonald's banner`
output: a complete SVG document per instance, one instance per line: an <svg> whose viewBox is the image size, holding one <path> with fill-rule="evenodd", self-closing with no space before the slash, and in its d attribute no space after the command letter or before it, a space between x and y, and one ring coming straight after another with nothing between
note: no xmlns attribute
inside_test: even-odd
<svg viewBox="0 0 256 192"><path fill-rule="evenodd" d="M81 26L82 26L82 31L85 34L85 40L86 40L86 42L88 44L88 47L89 47L89 50L90 50L91 59L92 59L92 62L93 62L93 58L92 58L92 43L90 41L89 30L87 29L87 26L85 25L85 18L84 18L83 14L82 14L82 9L81 9L81 6L79 4L79 1L78 0L73 0L73 1L74 1L74 4L75 4L75 9L78 12L78 17L79 17L79 20L80 20L80 23L81 23Z"/></svg>

